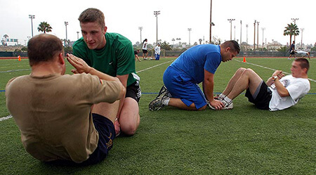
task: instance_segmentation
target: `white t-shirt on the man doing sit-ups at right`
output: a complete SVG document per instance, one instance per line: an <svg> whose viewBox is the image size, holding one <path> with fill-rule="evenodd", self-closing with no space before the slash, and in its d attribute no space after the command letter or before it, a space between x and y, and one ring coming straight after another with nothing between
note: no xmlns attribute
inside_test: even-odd
<svg viewBox="0 0 316 175"><path fill-rule="evenodd" d="M281 97L279 93L277 93L275 84L269 86L269 89L272 91L272 98L269 104L271 111L284 110L296 105L296 103L310 91L310 81L308 81L308 79L295 78L292 75L287 75L279 79L279 82L289 91L289 96Z"/></svg>

